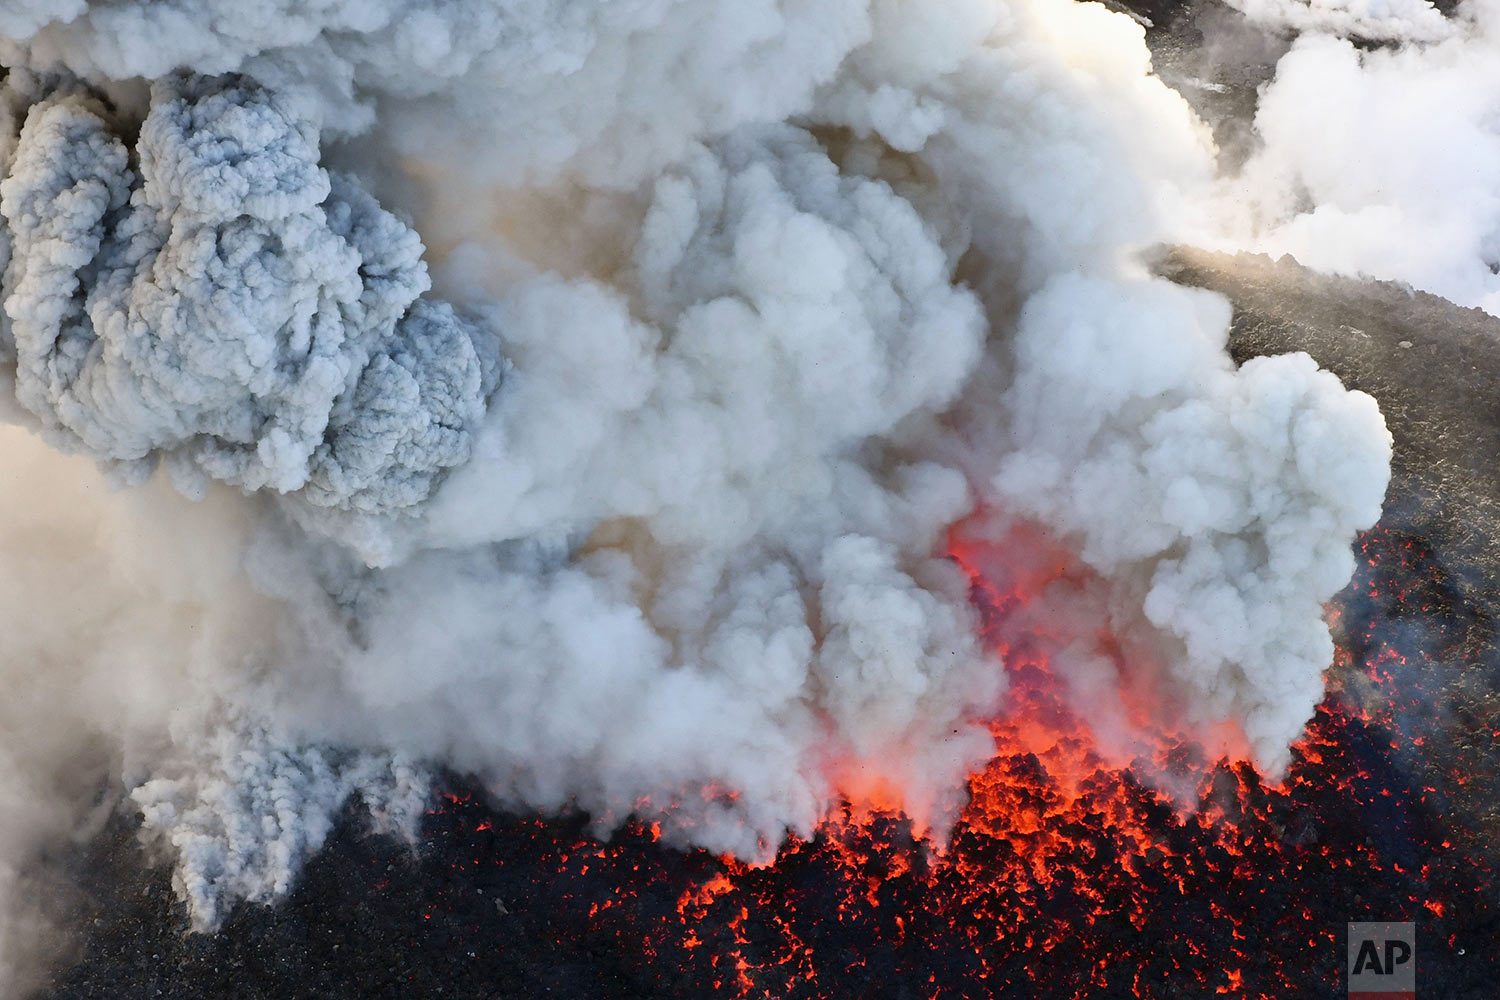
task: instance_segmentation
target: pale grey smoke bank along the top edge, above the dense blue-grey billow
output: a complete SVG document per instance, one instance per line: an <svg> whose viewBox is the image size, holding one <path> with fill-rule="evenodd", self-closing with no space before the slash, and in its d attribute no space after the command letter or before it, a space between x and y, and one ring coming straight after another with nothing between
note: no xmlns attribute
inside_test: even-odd
<svg viewBox="0 0 1500 1000"><path fill-rule="evenodd" d="M93 81L243 72L320 126L376 126L393 151L488 183L578 171L608 187L699 136L806 111L870 34L864 0L46 6L0 12L4 64Z"/></svg>

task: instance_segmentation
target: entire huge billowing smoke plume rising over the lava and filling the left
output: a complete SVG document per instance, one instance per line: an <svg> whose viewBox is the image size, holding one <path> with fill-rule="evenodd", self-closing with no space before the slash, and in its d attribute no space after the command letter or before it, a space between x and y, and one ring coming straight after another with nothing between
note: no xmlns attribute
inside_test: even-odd
<svg viewBox="0 0 1500 1000"><path fill-rule="evenodd" d="M1389 439L1140 265L1214 150L1128 18L69 0L0 36L6 412L128 484L4 435L0 799L60 795L0 811L0 891L102 787L212 927L354 790L410 831L429 765L750 859L842 796L940 840L1005 706L958 522L1040 526L1100 582L1077 633L1149 651L1060 657L1101 726L1136 669L1131 726L1275 771L1318 700Z"/></svg>

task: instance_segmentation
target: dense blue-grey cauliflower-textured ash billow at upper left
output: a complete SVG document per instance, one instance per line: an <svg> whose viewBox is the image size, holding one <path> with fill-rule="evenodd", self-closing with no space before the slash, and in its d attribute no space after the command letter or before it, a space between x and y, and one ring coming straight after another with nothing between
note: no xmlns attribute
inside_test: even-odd
<svg viewBox="0 0 1500 1000"><path fill-rule="evenodd" d="M153 84L134 147L110 118L76 85L40 97L0 186L0 360L44 436L132 480L165 462L189 492L423 502L500 360L420 298L417 235L256 84Z"/></svg>

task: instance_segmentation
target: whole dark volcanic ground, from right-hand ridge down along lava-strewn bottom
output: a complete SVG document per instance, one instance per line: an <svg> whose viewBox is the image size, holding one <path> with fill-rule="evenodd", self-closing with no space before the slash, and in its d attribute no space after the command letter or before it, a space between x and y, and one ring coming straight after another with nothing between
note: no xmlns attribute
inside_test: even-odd
<svg viewBox="0 0 1500 1000"><path fill-rule="evenodd" d="M1046 763L1014 754L990 775L1035 829L968 817L939 861L878 817L746 870L639 828L600 844L450 778L416 849L351 808L286 901L213 936L186 933L166 868L114 816L54 859L72 951L36 997L1312 997L1342 990L1346 922L1412 919L1424 996L1488 1000L1500 321L1286 259L1160 268L1234 301L1236 358L1305 349L1395 438L1284 786L1220 766L1184 816L1100 772L1058 811ZM1122 826L1149 843L1122 849Z"/></svg>

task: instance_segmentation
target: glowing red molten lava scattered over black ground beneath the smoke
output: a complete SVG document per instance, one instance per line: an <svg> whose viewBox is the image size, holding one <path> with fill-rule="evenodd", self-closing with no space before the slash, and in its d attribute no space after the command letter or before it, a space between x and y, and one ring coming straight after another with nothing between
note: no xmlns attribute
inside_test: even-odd
<svg viewBox="0 0 1500 1000"><path fill-rule="evenodd" d="M1329 696L1278 784L1220 735L1208 753L1166 733L1140 703L1150 670L1122 673L1120 718L1138 730L1101 745L1047 661L1047 618L1022 600L1089 582L1038 541L999 586L982 546L956 546L1011 690L945 849L861 805L764 868L672 852L639 823L602 844L582 820L458 822L450 850L506 898L507 921L544 912L558 942L610 955L618 996L1336 996L1350 921L1416 921L1424 990L1492 996L1500 897L1478 810L1492 811L1494 778L1460 765L1464 733L1500 726L1470 712L1455 736L1458 715L1440 709L1466 651L1488 643L1420 546L1384 531L1362 546L1330 615ZM1095 639L1120 660L1137 651ZM454 933L495 940L480 921Z"/></svg>

